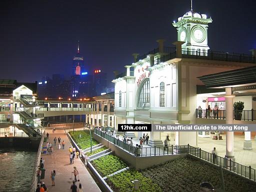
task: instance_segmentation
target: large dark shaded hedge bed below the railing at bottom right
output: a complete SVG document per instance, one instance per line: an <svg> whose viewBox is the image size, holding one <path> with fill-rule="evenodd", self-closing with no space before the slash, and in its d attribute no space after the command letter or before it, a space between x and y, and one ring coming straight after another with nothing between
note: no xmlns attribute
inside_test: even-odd
<svg viewBox="0 0 256 192"><path fill-rule="evenodd" d="M193 158L180 158L141 171L162 191L199 191L201 182L221 187L220 170ZM223 170L225 191L256 191L256 183Z"/></svg>

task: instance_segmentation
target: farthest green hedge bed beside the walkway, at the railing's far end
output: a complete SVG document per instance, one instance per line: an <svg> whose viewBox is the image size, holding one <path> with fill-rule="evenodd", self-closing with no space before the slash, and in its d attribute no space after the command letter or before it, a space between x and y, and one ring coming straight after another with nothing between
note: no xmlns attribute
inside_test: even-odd
<svg viewBox="0 0 256 192"><path fill-rule="evenodd" d="M88 131L85 132L84 130L75 130L74 133L73 131L69 131L69 134L79 148L85 149L90 147L90 134ZM81 134L81 138L79 138L79 134ZM93 146L98 144L98 142L94 139L91 139L91 144Z"/></svg>

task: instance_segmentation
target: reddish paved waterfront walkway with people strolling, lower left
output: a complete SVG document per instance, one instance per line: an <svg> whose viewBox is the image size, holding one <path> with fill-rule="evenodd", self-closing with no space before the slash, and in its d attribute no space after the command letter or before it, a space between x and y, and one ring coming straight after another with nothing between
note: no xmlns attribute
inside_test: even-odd
<svg viewBox="0 0 256 192"><path fill-rule="evenodd" d="M75 156L74 163L69 164L68 149L69 146L71 146L71 143L69 142L64 129L56 128L55 133L52 133L52 127L49 127L49 129L45 129L45 133L46 132L49 133L49 139L47 141L50 142L53 146L53 154L41 154L41 157L44 159L45 168L45 176L44 179L41 180L45 182L45 185L48 188L47 191L70 191L70 186L74 179L74 175L71 172L73 171L73 166L76 166L80 179L79 182L76 182L77 187L79 183L81 183L83 191L100 192L101 190L79 158L76 158ZM61 138L61 142L64 140L64 149L62 149L62 145L61 148L58 149L58 141L56 142L56 146L54 146L53 139L55 136L56 138L59 136ZM43 146L45 145L46 142L43 142ZM51 186L52 182L50 178L50 172L53 169L56 171L55 186Z"/></svg>

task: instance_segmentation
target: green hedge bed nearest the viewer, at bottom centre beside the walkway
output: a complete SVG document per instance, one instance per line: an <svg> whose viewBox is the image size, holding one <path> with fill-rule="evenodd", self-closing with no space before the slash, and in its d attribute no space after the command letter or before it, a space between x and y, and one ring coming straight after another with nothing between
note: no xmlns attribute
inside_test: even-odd
<svg viewBox="0 0 256 192"><path fill-rule="evenodd" d="M106 179L107 184L115 192L133 191L132 180L137 179L140 181L139 189L137 192L160 192L161 188L152 182L150 178L143 176L137 170L125 170Z"/></svg>

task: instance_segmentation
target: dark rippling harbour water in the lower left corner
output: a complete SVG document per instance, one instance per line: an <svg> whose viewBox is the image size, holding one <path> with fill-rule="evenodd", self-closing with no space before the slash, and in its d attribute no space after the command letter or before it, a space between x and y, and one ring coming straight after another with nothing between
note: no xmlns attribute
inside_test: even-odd
<svg viewBox="0 0 256 192"><path fill-rule="evenodd" d="M0 149L0 192L29 191L37 151Z"/></svg>

